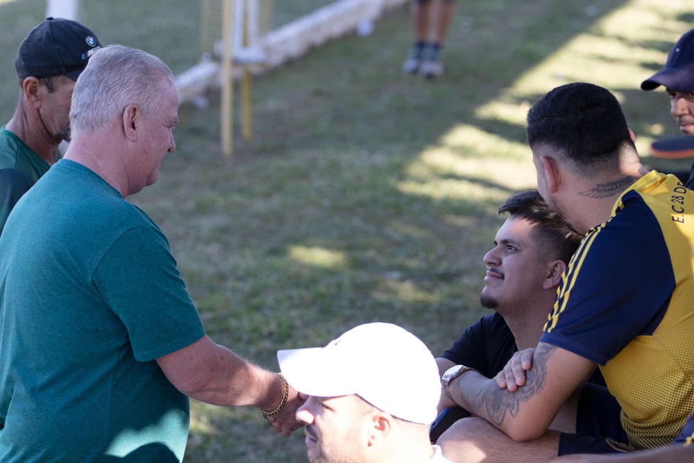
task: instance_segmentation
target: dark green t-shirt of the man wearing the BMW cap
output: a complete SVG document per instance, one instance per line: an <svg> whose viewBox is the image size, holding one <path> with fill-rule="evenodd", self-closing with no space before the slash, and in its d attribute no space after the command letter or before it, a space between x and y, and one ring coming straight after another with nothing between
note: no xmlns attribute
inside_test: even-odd
<svg viewBox="0 0 694 463"><path fill-rule="evenodd" d="M50 167L21 138L0 128L0 233L19 198Z"/></svg>

